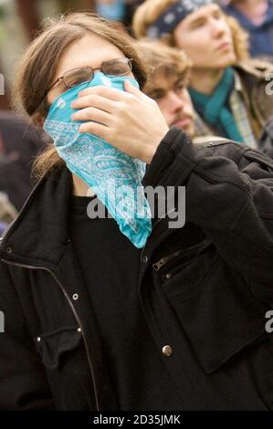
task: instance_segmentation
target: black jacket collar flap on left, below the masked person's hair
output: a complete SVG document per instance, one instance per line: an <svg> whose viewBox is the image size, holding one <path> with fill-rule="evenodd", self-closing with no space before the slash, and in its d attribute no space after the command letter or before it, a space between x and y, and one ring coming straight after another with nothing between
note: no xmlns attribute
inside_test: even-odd
<svg viewBox="0 0 273 429"><path fill-rule="evenodd" d="M1 258L34 266L57 264L68 243L71 189L66 167L43 177L1 237Z"/></svg>

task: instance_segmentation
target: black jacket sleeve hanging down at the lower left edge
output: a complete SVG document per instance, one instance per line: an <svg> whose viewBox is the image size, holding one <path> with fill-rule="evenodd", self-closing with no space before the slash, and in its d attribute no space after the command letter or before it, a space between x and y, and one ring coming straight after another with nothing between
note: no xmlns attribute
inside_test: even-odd
<svg viewBox="0 0 273 429"><path fill-rule="evenodd" d="M8 267L0 262L0 409L52 410L47 377Z"/></svg>

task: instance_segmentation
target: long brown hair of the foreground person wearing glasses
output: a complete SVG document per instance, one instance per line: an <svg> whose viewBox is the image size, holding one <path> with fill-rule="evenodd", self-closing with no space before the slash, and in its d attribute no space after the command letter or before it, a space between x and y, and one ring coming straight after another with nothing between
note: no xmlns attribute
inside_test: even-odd
<svg viewBox="0 0 273 429"><path fill-rule="evenodd" d="M47 91L56 75L58 62L66 48L73 42L94 34L118 47L127 58L132 58L132 72L143 88L147 69L142 64L134 41L114 23L92 13L73 13L47 19L46 28L26 48L16 68L13 100L16 110L22 111L41 126L47 116L49 105ZM40 177L56 164L63 163L52 141L35 162L35 175Z"/></svg>

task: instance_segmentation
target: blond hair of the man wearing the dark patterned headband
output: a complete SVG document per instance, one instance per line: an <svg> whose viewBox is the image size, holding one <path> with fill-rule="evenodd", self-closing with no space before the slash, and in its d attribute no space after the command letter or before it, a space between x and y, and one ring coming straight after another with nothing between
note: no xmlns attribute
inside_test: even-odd
<svg viewBox="0 0 273 429"><path fill-rule="evenodd" d="M132 29L136 38L141 39L146 37L147 30L156 19L163 14L170 5L176 3L177 0L146 0L136 10L132 20ZM236 19L232 16L224 14L226 22L231 29L234 49L236 53L236 61L249 58L248 53L248 36L247 32L239 25ZM163 37L162 43L175 47L173 33Z"/></svg>

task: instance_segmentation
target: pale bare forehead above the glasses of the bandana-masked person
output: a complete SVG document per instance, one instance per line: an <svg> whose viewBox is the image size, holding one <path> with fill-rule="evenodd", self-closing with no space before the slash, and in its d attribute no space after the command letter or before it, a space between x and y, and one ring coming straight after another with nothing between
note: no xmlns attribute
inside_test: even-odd
<svg viewBox="0 0 273 429"><path fill-rule="evenodd" d="M73 42L61 56L56 77L62 76L71 68L100 67L104 61L124 58L121 50L102 37L89 34Z"/></svg>

